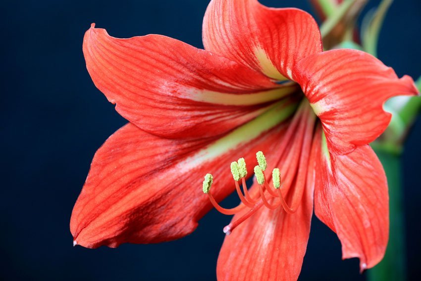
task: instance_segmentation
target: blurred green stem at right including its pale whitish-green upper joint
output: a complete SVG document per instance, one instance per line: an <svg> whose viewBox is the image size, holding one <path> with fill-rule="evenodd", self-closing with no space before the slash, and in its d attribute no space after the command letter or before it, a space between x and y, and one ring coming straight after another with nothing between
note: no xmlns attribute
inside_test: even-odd
<svg viewBox="0 0 421 281"><path fill-rule="evenodd" d="M421 77L416 84L421 91ZM402 143L421 111L421 97L404 97L403 101L391 102L389 108L393 112L392 122L382 138L371 144L383 164L389 185L390 235L383 260L368 270L369 281L406 280L405 216L401 186Z"/></svg>

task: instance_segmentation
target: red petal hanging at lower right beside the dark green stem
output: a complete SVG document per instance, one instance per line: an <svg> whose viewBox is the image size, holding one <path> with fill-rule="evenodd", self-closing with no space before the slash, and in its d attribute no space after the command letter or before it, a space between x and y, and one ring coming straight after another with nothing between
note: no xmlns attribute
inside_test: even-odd
<svg viewBox="0 0 421 281"><path fill-rule="evenodd" d="M384 256L389 237L389 197L383 167L368 146L338 156L320 154L315 187L316 216L342 243L342 257L360 258L361 270Z"/></svg>

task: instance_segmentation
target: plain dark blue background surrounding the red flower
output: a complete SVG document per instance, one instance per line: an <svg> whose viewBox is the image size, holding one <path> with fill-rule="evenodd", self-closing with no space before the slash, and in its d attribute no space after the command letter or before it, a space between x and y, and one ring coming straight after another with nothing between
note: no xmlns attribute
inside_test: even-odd
<svg viewBox="0 0 421 281"><path fill-rule="evenodd" d="M264 0L312 11L306 0ZM369 6L377 4L371 0ZM96 149L126 121L95 88L82 38L91 22L115 37L164 34L202 47L208 0L3 1L1 8L1 276L7 279L214 280L222 227L211 212L178 241L96 250L72 247L69 219ZM367 10L367 9L366 9ZM395 1L379 57L421 75L421 2ZM404 154L409 277L420 275L418 119ZM336 235L314 219L301 280L364 280L341 261Z"/></svg>

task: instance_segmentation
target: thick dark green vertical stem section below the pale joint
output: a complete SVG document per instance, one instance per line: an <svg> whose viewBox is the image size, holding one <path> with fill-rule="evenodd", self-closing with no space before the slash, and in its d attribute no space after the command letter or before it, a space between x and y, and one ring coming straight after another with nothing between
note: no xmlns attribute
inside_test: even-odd
<svg viewBox="0 0 421 281"><path fill-rule="evenodd" d="M406 280L405 216L402 204L402 162L400 154L374 149L386 172L389 185L390 235L386 254L374 268L368 270L369 281Z"/></svg>

